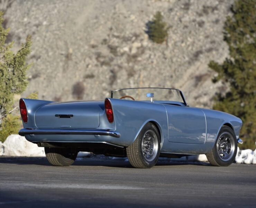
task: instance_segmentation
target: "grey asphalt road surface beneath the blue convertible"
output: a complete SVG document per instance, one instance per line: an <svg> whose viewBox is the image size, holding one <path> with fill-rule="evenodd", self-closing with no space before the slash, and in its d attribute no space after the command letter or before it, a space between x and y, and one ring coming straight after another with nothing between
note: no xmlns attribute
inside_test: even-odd
<svg viewBox="0 0 256 208"><path fill-rule="evenodd" d="M256 207L256 165L0 157L0 207Z"/></svg>

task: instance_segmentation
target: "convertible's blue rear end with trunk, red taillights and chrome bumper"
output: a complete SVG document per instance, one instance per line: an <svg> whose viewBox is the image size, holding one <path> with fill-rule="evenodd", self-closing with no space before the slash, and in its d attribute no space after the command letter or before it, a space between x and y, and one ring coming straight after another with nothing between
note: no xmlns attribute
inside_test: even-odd
<svg viewBox="0 0 256 208"><path fill-rule="evenodd" d="M24 129L19 134L38 145L101 142L120 145L110 101L55 103L20 99Z"/></svg>

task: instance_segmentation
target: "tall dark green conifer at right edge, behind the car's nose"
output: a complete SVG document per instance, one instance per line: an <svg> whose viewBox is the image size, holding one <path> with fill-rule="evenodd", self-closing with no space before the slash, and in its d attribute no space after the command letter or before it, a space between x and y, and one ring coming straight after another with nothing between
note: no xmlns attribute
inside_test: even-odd
<svg viewBox="0 0 256 208"><path fill-rule="evenodd" d="M233 17L227 17L224 40L230 58L222 64L214 61L209 67L218 72L213 79L230 84L226 95L216 97L214 109L240 117L243 127L241 148L255 149L256 141L256 0L237 0L231 7Z"/></svg>

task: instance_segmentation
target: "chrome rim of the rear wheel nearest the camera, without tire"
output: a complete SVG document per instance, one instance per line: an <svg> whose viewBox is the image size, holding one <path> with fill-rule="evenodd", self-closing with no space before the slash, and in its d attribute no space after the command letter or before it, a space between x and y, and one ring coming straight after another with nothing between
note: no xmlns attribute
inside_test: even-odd
<svg viewBox="0 0 256 208"><path fill-rule="evenodd" d="M153 130L147 130L141 142L141 148L144 158L147 161L153 161L158 153L158 139Z"/></svg>

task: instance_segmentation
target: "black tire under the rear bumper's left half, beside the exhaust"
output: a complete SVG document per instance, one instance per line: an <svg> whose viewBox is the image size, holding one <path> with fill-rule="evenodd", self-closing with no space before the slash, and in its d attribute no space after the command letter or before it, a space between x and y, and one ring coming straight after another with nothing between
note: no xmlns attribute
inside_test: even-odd
<svg viewBox="0 0 256 208"><path fill-rule="evenodd" d="M53 166L70 166L77 157L77 151L68 148L45 147L45 155Z"/></svg>

